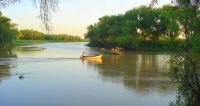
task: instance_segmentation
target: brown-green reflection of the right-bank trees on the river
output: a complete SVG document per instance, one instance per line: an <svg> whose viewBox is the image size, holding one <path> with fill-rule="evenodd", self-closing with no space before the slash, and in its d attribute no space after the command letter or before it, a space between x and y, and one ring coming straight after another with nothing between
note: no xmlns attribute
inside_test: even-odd
<svg viewBox="0 0 200 106"><path fill-rule="evenodd" d="M174 85L168 76L169 56L150 54L125 54L104 56L103 64L98 72L104 80L123 82L129 89L139 92L160 90L168 93L174 90Z"/></svg>

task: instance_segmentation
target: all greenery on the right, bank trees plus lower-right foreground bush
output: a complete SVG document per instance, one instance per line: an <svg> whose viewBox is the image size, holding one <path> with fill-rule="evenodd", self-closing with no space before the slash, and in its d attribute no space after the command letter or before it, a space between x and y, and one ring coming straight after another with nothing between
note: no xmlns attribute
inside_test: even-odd
<svg viewBox="0 0 200 106"><path fill-rule="evenodd" d="M199 1L178 0L159 8L140 6L125 14L103 16L88 26L88 46L134 51L175 52L170 78L177 98L170 106L200 106Z"/></svg>

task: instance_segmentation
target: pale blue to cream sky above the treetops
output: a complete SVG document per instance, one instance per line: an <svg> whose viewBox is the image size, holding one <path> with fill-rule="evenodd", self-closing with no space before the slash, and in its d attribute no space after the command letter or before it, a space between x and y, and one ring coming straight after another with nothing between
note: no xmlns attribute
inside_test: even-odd
<svg viewBox="0 0 200 106"><path fill-rule="evenodd" d="M60 0L59 9L52 16L53 31L56 34L84 36L87 26L98 22L104 15L124 14L141 5L148 5L151 0ZM159 6L170 0L159 0ZM2 10L19 29L44 31L38 18L39 8L32 0L22 0Z"/></svg>

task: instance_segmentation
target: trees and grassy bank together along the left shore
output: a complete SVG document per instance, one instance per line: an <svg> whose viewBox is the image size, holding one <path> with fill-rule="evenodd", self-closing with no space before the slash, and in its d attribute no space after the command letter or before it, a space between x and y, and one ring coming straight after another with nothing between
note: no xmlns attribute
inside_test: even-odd
<svg viewBox="0 0 200 106"><path fill-rule="evenodd" d="M19 30L17 24L0 12L0 49L12 49L15 46L52 43L52 42L85 42L79 36L68 34L45 34L32 29Z"/></svg>

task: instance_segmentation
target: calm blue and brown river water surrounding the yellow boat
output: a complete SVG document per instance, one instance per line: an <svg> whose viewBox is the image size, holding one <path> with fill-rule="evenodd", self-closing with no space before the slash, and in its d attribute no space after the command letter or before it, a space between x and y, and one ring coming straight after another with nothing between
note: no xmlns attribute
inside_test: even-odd
<svg viewBox="0 0 200 106"><path fill-rule="evenodd" d="M168 54L126 53L82 61L84 43L21 47L0 58L0 106L168 106ZM3 52L3 51L1 51Z"/></svg>

